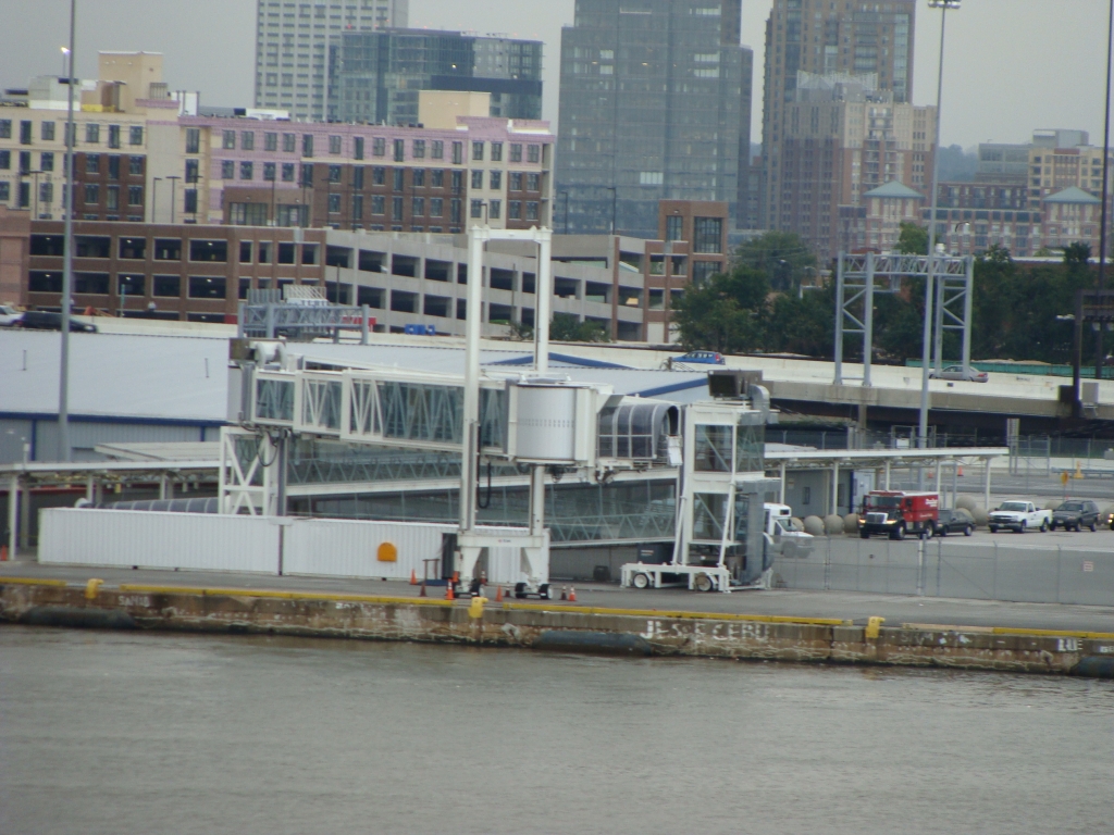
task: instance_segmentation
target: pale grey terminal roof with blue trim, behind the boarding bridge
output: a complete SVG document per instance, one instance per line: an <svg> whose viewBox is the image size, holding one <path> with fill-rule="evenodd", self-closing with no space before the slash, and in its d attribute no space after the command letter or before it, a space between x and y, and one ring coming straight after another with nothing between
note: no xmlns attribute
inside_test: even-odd
<svg viewBox="0 0 1114 835"><path fill-rule="evenodd" d="M289 351L325 363L397 366L462 374L460 347L291 343ZM0 415L58 414L59 334L0 330ZM530 362L529 345L483 351L488 366ZM77 419L215 425L227 410L228 340L223 336L72 334L70 414ZM550 369L570 379L608 383L616 393L692 402L707 397L702 372L628 369L550 352ZM525 370L525 369L524 369Z"/></svg>

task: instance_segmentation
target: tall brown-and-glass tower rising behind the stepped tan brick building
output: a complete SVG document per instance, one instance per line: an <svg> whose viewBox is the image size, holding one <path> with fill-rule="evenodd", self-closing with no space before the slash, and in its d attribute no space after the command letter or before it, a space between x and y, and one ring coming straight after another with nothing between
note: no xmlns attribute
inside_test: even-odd
<svg viewBox="0 0 1114 835"><path fill-rule="evenodd" d="M761 222L797 232L784 218L783 141L801 71L873 75L895 105L912 100L916 0L774 0L766 19L762 112ZM907 185L909 185L907 183Z"/></svg>

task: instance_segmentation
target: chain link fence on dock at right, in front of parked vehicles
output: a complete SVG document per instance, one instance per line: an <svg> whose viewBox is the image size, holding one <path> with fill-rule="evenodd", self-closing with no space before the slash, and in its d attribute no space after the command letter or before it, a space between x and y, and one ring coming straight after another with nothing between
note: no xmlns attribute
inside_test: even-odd
<svg viewBox="0 0 1114 835"><path fill-rule="evenodd" d="M832 537L773 571L775 588L1114 606L1108 550Z"/></svg>

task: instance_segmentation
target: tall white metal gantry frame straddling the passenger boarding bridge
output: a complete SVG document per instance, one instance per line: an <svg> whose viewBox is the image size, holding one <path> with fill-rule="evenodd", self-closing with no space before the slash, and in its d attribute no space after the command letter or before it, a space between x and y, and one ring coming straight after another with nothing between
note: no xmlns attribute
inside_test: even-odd
<svg viewBox="0 0 1114 835"><path fill-rule="evenodd" d="M468 287L466 294L467 318L465 320L465 449L460 465L460 534L457 548L460 552L460 581L469 584L472 572L483 548L508 543L506 537L496 541L492 537L477 531L476 525L476 479L479 472L480 452L480 333L482 331L483 298L483 245L489 240L526 240L538 246L538 276L534 313L534 370L544 376L549 370L549 305L553 297L551 265L553 230L532 227L530 229L492 229L490 226L472 226L468 230ZM530 527L526 537L520 537L522 568L531 583L541 577L544 566L549 564L549 537L545 530L545 468L531 465L530 470Z"/></svg>

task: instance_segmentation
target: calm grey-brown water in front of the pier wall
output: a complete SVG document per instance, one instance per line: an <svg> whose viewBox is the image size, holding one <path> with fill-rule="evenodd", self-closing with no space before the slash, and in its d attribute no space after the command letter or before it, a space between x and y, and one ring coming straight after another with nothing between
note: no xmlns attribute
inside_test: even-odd
<svg viewBox="0 0 1114 835"><path fill-rule="evenodd" d="M1114 686L0 627L0 833L1114 832Z"/></svg>

